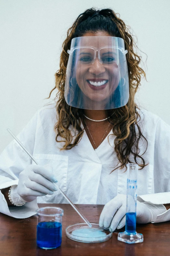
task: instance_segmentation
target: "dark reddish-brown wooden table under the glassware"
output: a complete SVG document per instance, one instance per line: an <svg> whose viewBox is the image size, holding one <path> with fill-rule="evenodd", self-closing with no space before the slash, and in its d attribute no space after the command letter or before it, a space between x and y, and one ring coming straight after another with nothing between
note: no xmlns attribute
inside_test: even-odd
<svg viewBox="0 0 170 256"><path fill-rule="evenodd" d="M69 204L39 204L39 207L55 206L64 209L62 245L56 249L44 250L36 246L36 216L15 219L0 213L0 255L1 256L166 256L170 255L170 221L157 224L137 224L136 231L142 233L144 242L125 244L113 233L103 243L86 244L70 240L65 228L81 222L81 218ZM77 205L90 222L98 223L102 205ZM121 230L122 231L122 230Z"/></svg>

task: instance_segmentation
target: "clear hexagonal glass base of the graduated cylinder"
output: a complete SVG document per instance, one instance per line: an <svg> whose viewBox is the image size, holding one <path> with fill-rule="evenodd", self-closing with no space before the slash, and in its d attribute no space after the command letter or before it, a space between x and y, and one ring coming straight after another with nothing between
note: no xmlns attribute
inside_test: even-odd
<svg viewBox="0 0 170 256"><path fill-rule="evenodd" d="M128 233L126 231L118 234L118 240L127 244L136 244L143 242L143 235L140 233Z"/></svg>

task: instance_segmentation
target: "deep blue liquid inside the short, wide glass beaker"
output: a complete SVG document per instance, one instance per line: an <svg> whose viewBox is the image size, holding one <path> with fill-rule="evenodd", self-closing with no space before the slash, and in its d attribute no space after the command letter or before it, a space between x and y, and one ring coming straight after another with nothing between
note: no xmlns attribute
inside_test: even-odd
<svg viewBox="0 0 170 256"><path fill-rule="evenodd" d="M37 246L52 249L61 245L62 224L60 222L39 222L36 227Z"/></svg>

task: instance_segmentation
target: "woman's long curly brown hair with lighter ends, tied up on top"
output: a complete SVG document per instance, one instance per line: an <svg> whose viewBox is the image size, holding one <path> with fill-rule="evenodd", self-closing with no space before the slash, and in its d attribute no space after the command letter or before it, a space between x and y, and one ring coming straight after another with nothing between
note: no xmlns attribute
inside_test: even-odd
<svg viewBox="0 0 170 256"><path fill-rule="evenodd" d="M64 142L61 150L69 150L77 145L83 136L84 129L81 128L80 119L83 116L83 110L69 106L64 98L65 75L69 57L67 50L70 49L73 38L82 36L86 32L97 31L105 31L111 36L121 37L125 43L125 50L128 51L126 54L130 94L128 103L114 110L106 110L108 116L112 114L110 121L108 121L113 125L113 134L116 136L114 145L119 160L117 168L122 169L124 166L126 167L127 163L132 163L130 155L133 155L135 163L139 164L142 169L147 164L145 164L142 156L139 155L139 140L144 139L146 141L146 150L148 142L142 135L141 128L138 125L140 114L137 111L139 108L134 102L134 97L138 86L141 85L141 76L146 79L146 74L139 67L141 57L135 53L137 46L132 38L130 27L126 26L120 19L120 15L112 9L87 9L78 16L73 26L67 31L60 57L60 69L55 74L55 87L48 97L50 98L53 90L58 89L55 97L57 99L56 111L58 114L58 120L54 126L56 142ZM117 168L115 166L115 169Z"/></svg>

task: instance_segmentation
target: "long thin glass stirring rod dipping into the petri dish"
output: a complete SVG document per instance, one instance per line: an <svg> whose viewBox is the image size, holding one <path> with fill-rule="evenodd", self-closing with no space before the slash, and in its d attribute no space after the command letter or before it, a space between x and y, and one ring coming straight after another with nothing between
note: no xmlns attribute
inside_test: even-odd
<svg viewBox="0 0 170 256"><path fill-rule="evenodd" d="M22 145L22 143L17 139L17 137L11 132L11 130L9 128L7 128L7 131L12 135L12 137L20 144L20 146L23 148L23 150L32 158L32 160L38 164L38 162L35 160L35 158L28 152L28 150L24 147L24 145ZM80 213L80 211L78 210L78 208L72 203L72 201L70 201L70 199L64 194L64 192L59 188L59 186L57 184L54 184L56 186L56 188L60 191L60 193L65 197L65 199L69 202L69 204L71 204L71 206L74 208L74 210L80 215L80 217L87 223L87 225L92 228L92 225L90 224L90 222L86 219L86 217L84 217L84 215L82 213Z"/></svg>

